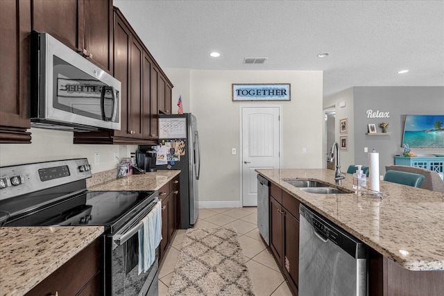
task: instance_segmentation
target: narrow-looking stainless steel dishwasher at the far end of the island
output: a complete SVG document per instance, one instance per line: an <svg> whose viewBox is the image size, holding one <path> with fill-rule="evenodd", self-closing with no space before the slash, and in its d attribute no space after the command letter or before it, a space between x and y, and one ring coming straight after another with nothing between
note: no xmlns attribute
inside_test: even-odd
<svg viewBox="0 0 444 296"><path fill-rule="evenodd" d="M257 175L257 228L267 245L270 245L270 181Z"/></svg>

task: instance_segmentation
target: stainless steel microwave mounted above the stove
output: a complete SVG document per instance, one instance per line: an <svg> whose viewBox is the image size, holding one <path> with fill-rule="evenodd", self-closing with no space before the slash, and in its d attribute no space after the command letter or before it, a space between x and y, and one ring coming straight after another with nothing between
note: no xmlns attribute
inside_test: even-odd
<svg viewBox="0 0 444 296"><path fill-rule="evenodd" d="M31 33L31 126L120 130L121 82L48 33Z"/></svg>

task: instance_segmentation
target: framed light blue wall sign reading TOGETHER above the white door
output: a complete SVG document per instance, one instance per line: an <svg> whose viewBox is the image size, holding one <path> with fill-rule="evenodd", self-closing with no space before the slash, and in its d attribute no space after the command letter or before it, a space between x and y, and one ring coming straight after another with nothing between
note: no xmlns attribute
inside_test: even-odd
<svg viewBox="0 0 444 296"><path fill-rule="evenodd" d="M290 84L232 84L233 101L290 101Z"/></svg>

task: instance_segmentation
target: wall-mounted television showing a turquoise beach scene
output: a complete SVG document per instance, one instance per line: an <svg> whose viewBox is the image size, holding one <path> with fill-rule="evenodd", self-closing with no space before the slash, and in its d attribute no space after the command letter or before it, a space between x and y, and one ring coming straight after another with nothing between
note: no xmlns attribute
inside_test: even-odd
<svg viewBox="0 0 444 296"><path fill-rule="evenodd" d="M405 116L402 146L444 147L444 115Z"/></svg>

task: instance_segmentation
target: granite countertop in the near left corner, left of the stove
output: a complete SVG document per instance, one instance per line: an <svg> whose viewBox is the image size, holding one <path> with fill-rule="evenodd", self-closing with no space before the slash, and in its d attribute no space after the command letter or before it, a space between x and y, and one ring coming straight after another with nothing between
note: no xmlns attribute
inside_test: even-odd
<svg viewBox="0 0 444 296"><path fill-rule="evenodd" d="M0 295L28 293L103 231L103 226L1 227Z"/></svg>

